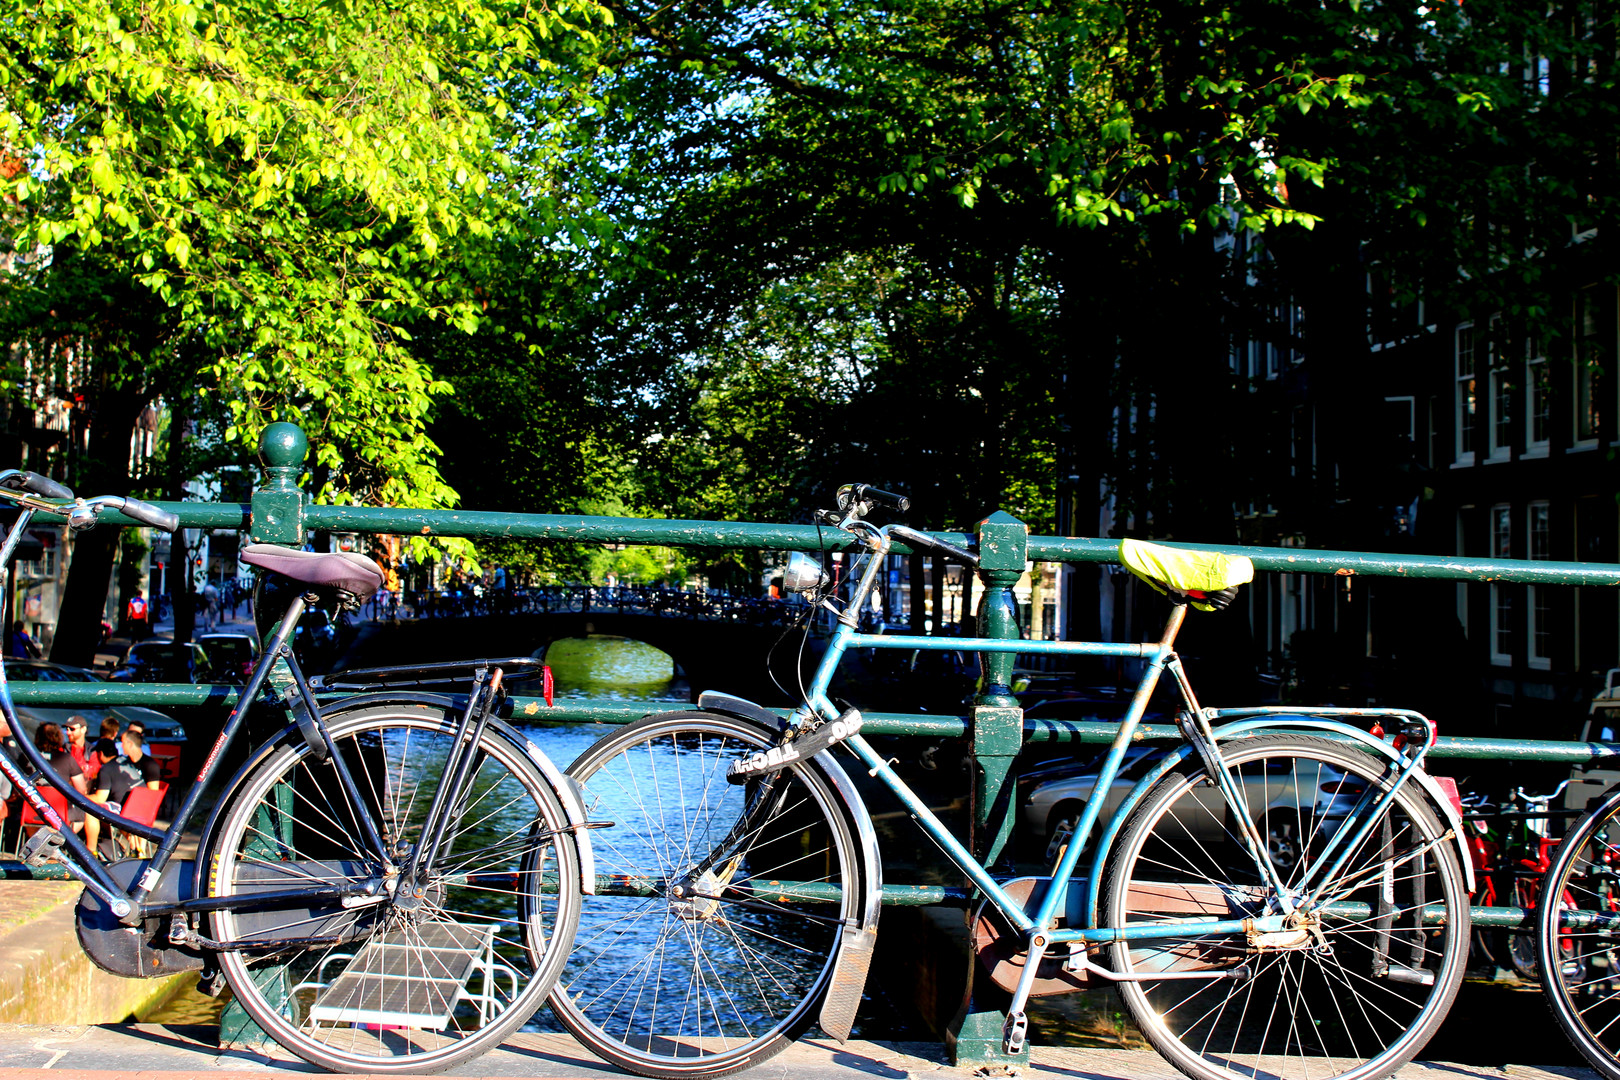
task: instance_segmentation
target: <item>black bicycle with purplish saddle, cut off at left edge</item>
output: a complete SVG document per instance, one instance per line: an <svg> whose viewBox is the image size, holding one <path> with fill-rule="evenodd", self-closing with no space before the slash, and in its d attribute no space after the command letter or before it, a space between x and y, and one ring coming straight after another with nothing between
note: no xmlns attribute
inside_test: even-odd
<svg viewBox="0 0 1620 1080"><path fill-rule="evenodd" d="M24 471L0 473L0 502L18 507L0 567L36 513L76 529L104 510L178 526L138 499L75 499ZM0 753L0 772L45 823L24 860L60 858L84 882L79 942L107 972L201 972L212 993L228 983L264 1031L326 1069L449 1069L546 999L582 887L595 881L578 797L499 717L507 682L541 667L517 657L306 678L290 644L300 617L358 609L381 572L353 554L269 544L245 547L241 560L259 570L254 617L267 644L173 823L160 831L113 813L21 738L23 761ZM429 690L455 683L467 688ZM345 695L318 701L330 690ZM204 818L225 748L264 699L285 708L287 725L248 755ZM21 733L3 667L0 709ZM154 855L102 865L40 785L156 844ZM201 858L177 858L198 819Z"/></svg>

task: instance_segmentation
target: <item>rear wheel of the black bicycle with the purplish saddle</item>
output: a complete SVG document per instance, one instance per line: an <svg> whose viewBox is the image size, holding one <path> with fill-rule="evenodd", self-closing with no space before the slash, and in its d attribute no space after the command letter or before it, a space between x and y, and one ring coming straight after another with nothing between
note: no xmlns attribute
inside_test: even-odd
<svg viewBox="0 0 1620 1080"><path fill-rule="evenodd" d="M421 836L460 721L444 704L327 717L390 855ZM225 950L237 1001L277 1043L334 1072L439 1072L533 1015L578 923L578 855L562 805L525 750L486 729L460 814L423 897L214 913L222 941L327 938ZM330 761L296 735L232 792L209 852L209 895L386 878ZM454 806L450 810L454 813Z"/></svg>

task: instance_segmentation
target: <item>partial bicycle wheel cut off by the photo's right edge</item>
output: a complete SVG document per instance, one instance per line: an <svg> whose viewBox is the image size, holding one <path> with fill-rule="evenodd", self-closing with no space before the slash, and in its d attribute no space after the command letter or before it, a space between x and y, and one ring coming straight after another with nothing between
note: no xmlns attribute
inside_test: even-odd
<svg viewBox="0 0 1620 1080"><path fill-rule="evenodd" d="M1580 818L1558 845L1536 912L1536 950L1547 1007L1592 1069L1620 1080L1620 886L1610 863L1620 857L1620 787ZM1567 913L1609 916L1570 926ZM1557 955L1557 963L1545 957Z"/></svg>

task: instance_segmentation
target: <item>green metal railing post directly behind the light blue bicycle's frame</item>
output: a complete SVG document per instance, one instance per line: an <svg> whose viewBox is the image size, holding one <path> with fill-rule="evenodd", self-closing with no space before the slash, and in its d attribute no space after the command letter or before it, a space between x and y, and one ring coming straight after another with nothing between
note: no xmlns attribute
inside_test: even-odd
<svg viewBox="0 0 1620 1080"><path fill-rule="evenodd" d="M1013 588L1029 559L1029 528L995 512L978 523L978 635L1019 638L1017 597ZM1013 653L980 654L978 695L969 711L974 737L972 845L985 866L1001 857L1013 832L1013 785L1008 776L1024 746L1024 709L1013 696ZM972 910L967 912L972 918ZM961 1025L946 1033L951 1061L957 1065L1027 1065L1029 1046L1019 1054L1001 1049L1006 994L980 978L972 949L967 954L967 991Z"/></svg>

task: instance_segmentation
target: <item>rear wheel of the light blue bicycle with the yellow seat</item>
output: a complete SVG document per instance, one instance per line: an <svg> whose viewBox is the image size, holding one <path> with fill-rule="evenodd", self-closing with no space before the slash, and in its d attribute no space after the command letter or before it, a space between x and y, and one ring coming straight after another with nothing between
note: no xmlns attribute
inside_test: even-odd
<svg viewBox="0 0 1620 1080"><path fill-rule="evenodd" d="M1392 774L1387 761L1311 737L1264 735L1221 753L1243 777L1262 836L1275 814L1312 821L1285 889L1298 889L1328 837L1346 827L1359 792L1385 787ZM1267 913L1273 891L1238 842L1220 789L1204 779L1189 763L1131 814L1103 874L1105 926ZM1134 976L1249 968L1233 981L1121 981L1149 1043L1197 1080L1372 1080L1411 1061L1456 996L1469 939L1455 844L1414 784L1396 793L1338 881L1324 899L1364 905L1364 918L1341 908L1288 944L1189 933L1108 946L1113 970ZM1443 925L1422 926L1418 912L1434 902Z"/></svg>

